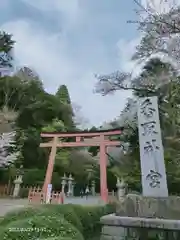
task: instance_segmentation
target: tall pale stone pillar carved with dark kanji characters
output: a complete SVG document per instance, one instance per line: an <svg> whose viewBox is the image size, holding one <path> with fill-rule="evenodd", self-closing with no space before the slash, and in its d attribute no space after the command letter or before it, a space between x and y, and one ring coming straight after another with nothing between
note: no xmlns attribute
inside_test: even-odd
<svg viewBox="0 0 180 240"><path fill-rule="evenodd" d="M164 150L156 96L139 99L138 128L143 195L167 197Z"/></svg>

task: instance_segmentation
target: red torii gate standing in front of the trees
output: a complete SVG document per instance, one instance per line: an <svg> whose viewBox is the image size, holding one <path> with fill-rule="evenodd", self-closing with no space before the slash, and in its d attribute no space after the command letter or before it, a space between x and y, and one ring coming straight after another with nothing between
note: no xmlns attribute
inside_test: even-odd
<svg viewBox="0 0 180 240"><path fill-rule="evenodd" d="M40 147L51 148L49 155L49 162L46 171L46 177L43 185L43 192L47 192L48 184L51 183L52 173L54 168L54 160L56 156L57 147L100 147L100 193L101 199L104 202L108 201L107 189L107 155L106 148L108 146L119 146L119 141L111 141L109 136L120 135L122 129L96 131L96 132L73 132L73 133L41 133L42 138L52 138L51 141L41 143ZM74 142L62 142L59 138L75 138Z"/></svg>

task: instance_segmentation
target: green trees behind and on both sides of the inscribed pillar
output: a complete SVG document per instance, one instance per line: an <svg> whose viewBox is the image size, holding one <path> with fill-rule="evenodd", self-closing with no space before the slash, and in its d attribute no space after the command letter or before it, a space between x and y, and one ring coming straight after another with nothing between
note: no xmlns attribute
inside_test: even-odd
<svg viewBox="0 0 180 240"><path fill-rule="evenodd" d="M114 82L116 89L128 89L123 85L124 79L127 80L127 77L117 73L112 78L106 76L104 81L111 82L112 86L114 86ZM134 100L136 100L137 96L158 96L169 193L177 194L180 192L178 187L180 183L180 82L177 71L171 64L162 62L159 58L151 58L145 63L140 75L131 80L131 84L130 88L133 90ZM123 125L126 128L121 141L128 143L129 148L126 154L122 154L119 161L111 164L110 171L118 177L123 177L127 181L129 188L140 191L141 174L137 112L131 106L126 107L125 110L124 115L129 116L126 120L126 116L124 117L122 114L122 119L119 119L119 122L121 126ZM135 113L131 115L133 111Z"/></svg>

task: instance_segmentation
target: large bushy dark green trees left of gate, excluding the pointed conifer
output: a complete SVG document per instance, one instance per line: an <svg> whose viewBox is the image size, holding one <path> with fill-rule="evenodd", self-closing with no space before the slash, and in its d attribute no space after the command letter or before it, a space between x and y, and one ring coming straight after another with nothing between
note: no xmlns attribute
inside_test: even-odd
<svg viewBox="0 0 180 240"><path fill-rule="evenodd" d="M4 106L14 110L17 115L13 119L16 145L10 151L20 153L18 162L24 168L44 169L48 151L39 147L40 133L72 129L69 106L64 105L57 96L46 93L39 79L27 80L23 79L23 75L19 78L18 74L0 78L0 110ZM7 121L9 124L9 119ZM0 131L4 132L7 127L1 124L1 128Z"/></svg>

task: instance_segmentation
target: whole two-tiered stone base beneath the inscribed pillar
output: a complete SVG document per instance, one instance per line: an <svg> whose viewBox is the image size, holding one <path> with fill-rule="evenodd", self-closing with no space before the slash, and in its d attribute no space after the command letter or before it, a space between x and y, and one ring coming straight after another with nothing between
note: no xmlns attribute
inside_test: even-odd
<svg viewBox="0 0 180 240"><path fill-rule="evenodd" d="M150 198L129 194L116 213L101 218L101 240L179 240L180 197Z"/></svg>

